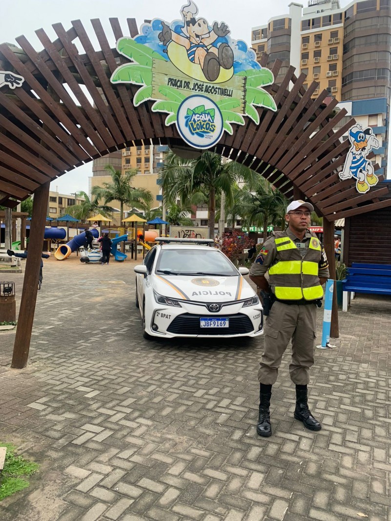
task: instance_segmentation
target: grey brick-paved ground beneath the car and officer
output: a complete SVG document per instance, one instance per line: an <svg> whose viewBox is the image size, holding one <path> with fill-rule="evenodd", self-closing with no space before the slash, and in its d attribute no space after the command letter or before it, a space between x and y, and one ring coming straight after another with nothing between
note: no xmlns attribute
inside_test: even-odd
<svg viewBox="0 0 391 521"><path fill-rule="evenodd" d="M262 340L144 340L135 264L44 261L26 369L0 333L0 440L41 464L0 519L391 521L391 300L353 301L316 350L320 432L292 417L284 356L262 439Z"/></svg>

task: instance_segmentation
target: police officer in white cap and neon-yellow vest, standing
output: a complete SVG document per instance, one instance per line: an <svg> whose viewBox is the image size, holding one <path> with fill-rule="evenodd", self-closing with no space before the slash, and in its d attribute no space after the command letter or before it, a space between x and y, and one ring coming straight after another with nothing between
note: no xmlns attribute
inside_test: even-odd
<svg viewBox="0 0 391 521"><path fill-rule="evenodd" d="M256 432L264 437L272 435L269 409L272 386L290 340L289 374L296 384L294 417L307 429L322 428L307 403L309 368L314 363L316 306L320 306L322 284L329 277L325 251L308 229L313 209L310 203L292 201L285 215L288 228L274 232L265 241L250 270L250 279L261 289L261 295L270 296L273 302L265 322L264 350L258 371L260 404Z"/></svg>

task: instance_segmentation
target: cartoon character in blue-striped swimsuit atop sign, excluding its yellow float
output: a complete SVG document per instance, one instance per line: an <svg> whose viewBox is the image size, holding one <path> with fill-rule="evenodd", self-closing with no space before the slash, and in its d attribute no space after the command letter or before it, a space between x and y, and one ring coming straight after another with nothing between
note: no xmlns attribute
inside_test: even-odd
<svg viewBox="0 0 391 521"><path fill-rule="evenodd" d="M163 31L158 35L159 40L164 45L172 40L184 46L189 60L200 65L206 80L216 81L221 67L230 69L234 64L234 52L227 43L221 43L218 47L212 45L219 36L229 34L228 27L224 22L220 26L215 22L210 31L204 18L196 19L198 7L191 0L182 8L181 13L184 21L183 35L172 31L162 21Z"/></svg>

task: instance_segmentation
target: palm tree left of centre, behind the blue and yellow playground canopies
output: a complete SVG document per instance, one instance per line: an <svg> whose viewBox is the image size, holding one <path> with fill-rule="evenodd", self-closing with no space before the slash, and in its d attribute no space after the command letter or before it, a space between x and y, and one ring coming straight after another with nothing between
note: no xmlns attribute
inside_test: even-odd
<svg viewBox="0 0 391 521"><path fill-rule="evenodd" d="M92 187L91 194L97 200L103 200L104 204L112 201L119 201L119 212L121 222L124 220L124 205L137 206L144 209L146 204L152 201L149 190L144 188L133 188L132 181L137 176L136 168L121 172L116 170L113 165L106 165L105 170L111 176L112 181L102 183L102 187Z"/></svg>

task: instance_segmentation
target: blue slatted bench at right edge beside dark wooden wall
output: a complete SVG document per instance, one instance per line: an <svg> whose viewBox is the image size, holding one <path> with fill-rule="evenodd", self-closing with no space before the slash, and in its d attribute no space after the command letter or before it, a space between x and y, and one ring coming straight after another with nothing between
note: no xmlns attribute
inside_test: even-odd
<svg viewBox="0 0 391 521"><path fill-rule="evenodd" d="M361 264L353 262L342 281L342 311L348 311L352 293L391 295L391 264Z"/></svg>

